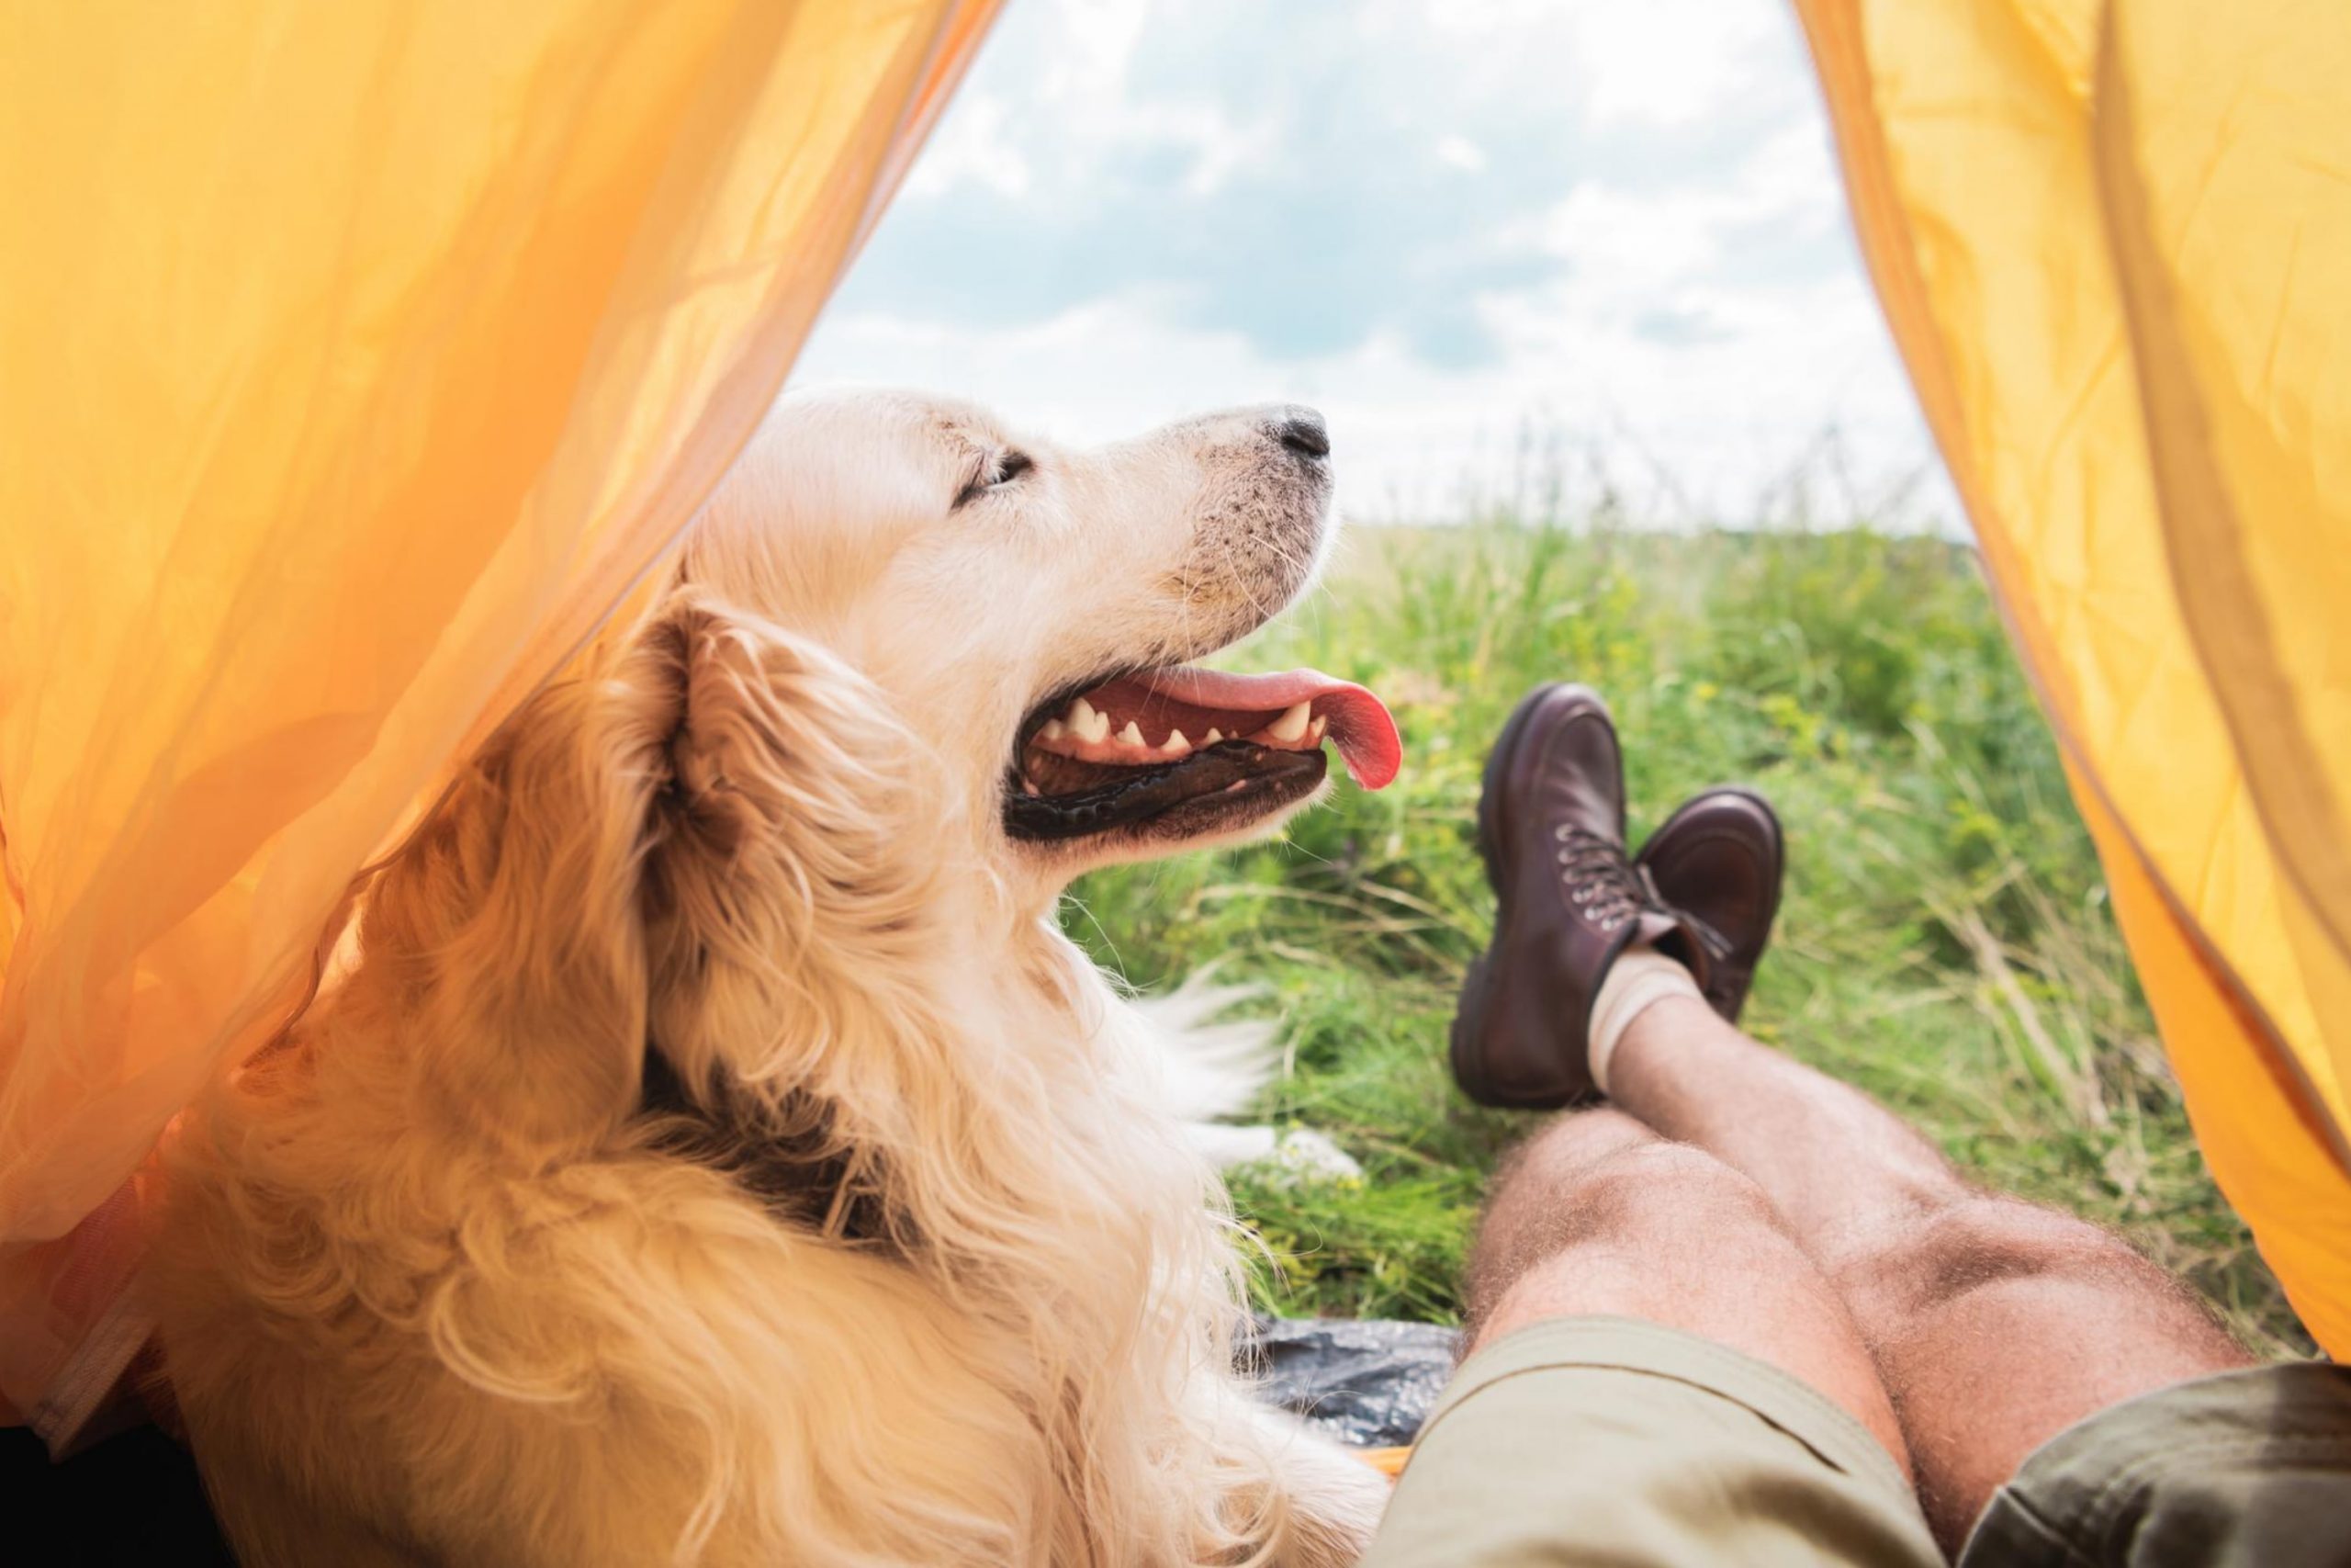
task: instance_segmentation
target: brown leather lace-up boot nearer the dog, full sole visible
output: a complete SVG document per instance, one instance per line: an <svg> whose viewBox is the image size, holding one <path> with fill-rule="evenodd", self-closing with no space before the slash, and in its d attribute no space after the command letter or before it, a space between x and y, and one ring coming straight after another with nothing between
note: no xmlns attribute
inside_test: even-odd
<svg viewBox="0 0 2351 1568"><path fill-rule="evenodd" d="M1693 971L1707 954L1625 858L1625 757L1594 691L1538 686L1519 703L1476 823L1493 945L1462 980L1453 1077L1483 1105L1568 1105L1594 1093L1592 999L1627 943L1660 943Z"/></svg>

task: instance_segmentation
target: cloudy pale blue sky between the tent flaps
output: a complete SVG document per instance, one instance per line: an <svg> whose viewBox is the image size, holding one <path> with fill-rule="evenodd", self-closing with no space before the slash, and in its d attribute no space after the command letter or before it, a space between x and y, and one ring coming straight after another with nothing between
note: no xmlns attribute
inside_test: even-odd
<svg viewBox="0 0 2351 1568"><path fill-rule="evenodd" d="M1310 402L1359 522L1958 517L1784 0L1011 0L816 383Z"/></svg>

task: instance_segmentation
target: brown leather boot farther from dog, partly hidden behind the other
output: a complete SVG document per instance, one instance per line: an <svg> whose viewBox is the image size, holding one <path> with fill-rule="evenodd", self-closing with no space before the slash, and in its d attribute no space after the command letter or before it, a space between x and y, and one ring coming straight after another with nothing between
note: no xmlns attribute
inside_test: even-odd
<svg viewBox="0 0 2351 1568"><path fill-rule="evenodd" d="M1770 940L1784 865L1770 802L1728 785L1683 802L1634 858L1660 903L1681 914L1704 947L1697 987L1730 1023L1747 1006L1747 987Z"/></svg>

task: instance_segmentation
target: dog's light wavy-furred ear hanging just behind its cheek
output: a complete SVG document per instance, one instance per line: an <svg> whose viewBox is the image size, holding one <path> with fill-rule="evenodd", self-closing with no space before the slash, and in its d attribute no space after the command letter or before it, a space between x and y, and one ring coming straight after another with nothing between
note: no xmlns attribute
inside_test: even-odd
<svg viewBox="0 0 2351 1568"><path fill-rule="evenodd" d="M684 686L644 867L651 1039L694 1098L781 1110L922 971L938 811L915 736L825 646L694 590L644 646Z"/></svg>

